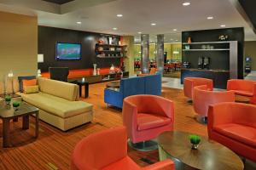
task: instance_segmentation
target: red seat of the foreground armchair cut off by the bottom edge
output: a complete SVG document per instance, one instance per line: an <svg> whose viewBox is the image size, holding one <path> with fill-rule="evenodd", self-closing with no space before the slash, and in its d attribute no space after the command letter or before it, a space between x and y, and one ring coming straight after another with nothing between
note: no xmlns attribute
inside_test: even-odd
<svg viewBox="0 0 256 170"><path fill-rule="evenodd" d="M129 156L125 156L123 159L113 162L107 167L103 167L102 170L139 170L141 169Z"/></svg>

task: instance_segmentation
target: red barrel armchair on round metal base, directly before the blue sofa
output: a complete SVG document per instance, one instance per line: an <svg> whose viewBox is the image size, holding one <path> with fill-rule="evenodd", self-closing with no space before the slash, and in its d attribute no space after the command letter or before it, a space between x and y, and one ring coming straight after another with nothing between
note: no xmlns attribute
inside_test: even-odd
<svg viewBox="0 0 256 170"><path fill-rule="evenodd" d="M127 127L128 138L132 144L154 139L160 133L171 131L173 122L174 105L169 99L155 95L133 95L124 99L123 124ZM135 145L131 146L140 150Z"/></svg>

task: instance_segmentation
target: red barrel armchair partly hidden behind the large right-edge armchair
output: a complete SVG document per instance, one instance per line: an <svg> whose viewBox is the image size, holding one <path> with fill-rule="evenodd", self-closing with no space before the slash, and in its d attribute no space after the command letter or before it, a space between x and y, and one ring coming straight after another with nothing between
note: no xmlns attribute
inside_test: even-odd
<svg viewBox="0 0 256 170"><path fill-rule="evenodd" d="M193 106L201 117L207 117L209 105L221 102L235 102L234 92L213 92L207 85L196 86L193 92Z"/></svg>

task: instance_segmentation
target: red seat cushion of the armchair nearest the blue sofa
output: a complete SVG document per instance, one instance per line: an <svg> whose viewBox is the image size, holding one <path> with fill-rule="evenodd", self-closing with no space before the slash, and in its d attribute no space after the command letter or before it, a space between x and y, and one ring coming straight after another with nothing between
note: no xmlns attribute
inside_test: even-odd
<svg viewBox="0 0 256 170"><path fill-rule="evenodd" d="M171 119L164 116L155 116L147 113L137 114L137 129L139 131L149 128L162 127L171 123Z"/></svg>

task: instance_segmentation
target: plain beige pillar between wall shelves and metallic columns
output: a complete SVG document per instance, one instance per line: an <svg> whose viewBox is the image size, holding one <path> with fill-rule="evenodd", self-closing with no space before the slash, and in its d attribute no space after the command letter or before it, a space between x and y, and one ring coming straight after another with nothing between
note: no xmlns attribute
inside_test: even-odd
<svg viewBox="0 0 256 170"><path fill-rule="evenodd" d="M123 44L127 45L127 53L124 58L125 71L129 71L129 76L134 75L134 37L124 36Z"/></svg>

